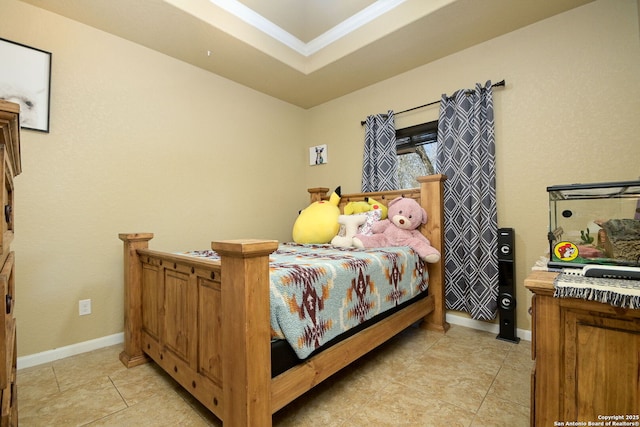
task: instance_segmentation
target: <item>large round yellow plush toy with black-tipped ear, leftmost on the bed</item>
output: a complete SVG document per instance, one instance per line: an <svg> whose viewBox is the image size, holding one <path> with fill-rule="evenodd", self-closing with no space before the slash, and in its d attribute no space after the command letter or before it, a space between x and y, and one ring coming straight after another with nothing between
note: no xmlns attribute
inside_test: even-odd
<svg viewBox="0 0 640 427"><path fill-rule="evenodd" d="M329 200L313 202L300 211L293 224L293 241L296 243L329 243L338 234L340 224L340 187Z"/></svg>

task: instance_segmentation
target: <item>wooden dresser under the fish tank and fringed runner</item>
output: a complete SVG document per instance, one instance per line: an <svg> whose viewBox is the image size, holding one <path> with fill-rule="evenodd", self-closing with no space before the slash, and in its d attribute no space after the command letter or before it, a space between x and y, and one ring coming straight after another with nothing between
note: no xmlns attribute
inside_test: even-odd
<svg viewBox="0 0 640 427"><path fill-rule="evenodd" d="M640 310L554 298L556 274L525 280L534 294L531 425L639 425Z"/></svg>

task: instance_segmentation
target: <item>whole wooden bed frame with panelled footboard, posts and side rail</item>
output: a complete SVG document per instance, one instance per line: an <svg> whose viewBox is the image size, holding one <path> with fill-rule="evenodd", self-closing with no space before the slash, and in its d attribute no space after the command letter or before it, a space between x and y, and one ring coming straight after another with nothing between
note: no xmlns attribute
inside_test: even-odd
<svg viewBox="0 0 640 427"><path fill-rule="evenodd" d="M412 190L343 195L386 204L415 198L422 233L443 252L443 175ZM309 189L311 201L328 188ZM127 367L152 359L227 426L270 426L272 414L408 326L446 332L442 261L429 264L429 296L271 378L269 254L275 240L214 241L220 261L149 249L151 233L123 233ZM444 254L443 254L444 255ZM444 256L442 257L444 258Z"/></svg>

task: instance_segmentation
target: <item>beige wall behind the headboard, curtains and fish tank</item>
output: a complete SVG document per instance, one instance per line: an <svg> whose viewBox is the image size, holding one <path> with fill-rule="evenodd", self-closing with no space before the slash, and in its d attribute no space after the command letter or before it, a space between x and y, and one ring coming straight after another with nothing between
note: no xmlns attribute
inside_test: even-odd
<svg viewBox="0 0 640 427"><path fill-rule="evenodd" d="M507 82L494 91L498 221L516 231L518 327L530 329L522 282L547 249L546 187L640 176L636 0L596 1L314 108L303 145L328 144L330 163L307 185L359 191L361 120L489 79ZM437 117L435 105L396 126Z"/></svg>

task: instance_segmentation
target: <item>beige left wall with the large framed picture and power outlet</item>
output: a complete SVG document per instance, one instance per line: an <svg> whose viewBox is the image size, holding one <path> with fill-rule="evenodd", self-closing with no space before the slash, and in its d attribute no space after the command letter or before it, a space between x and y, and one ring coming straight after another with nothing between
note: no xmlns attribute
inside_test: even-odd
<svg viewBox="0 0 640 427"><path fill-rule="evenodd" d="M0 37L53 52L51 132L22 132L19 356L122 332L120 232L152 246L290 240L308 112L14 0ZM271 197L277 194L277 203ZM92 299L93 314L78 315Z"/></svg>

